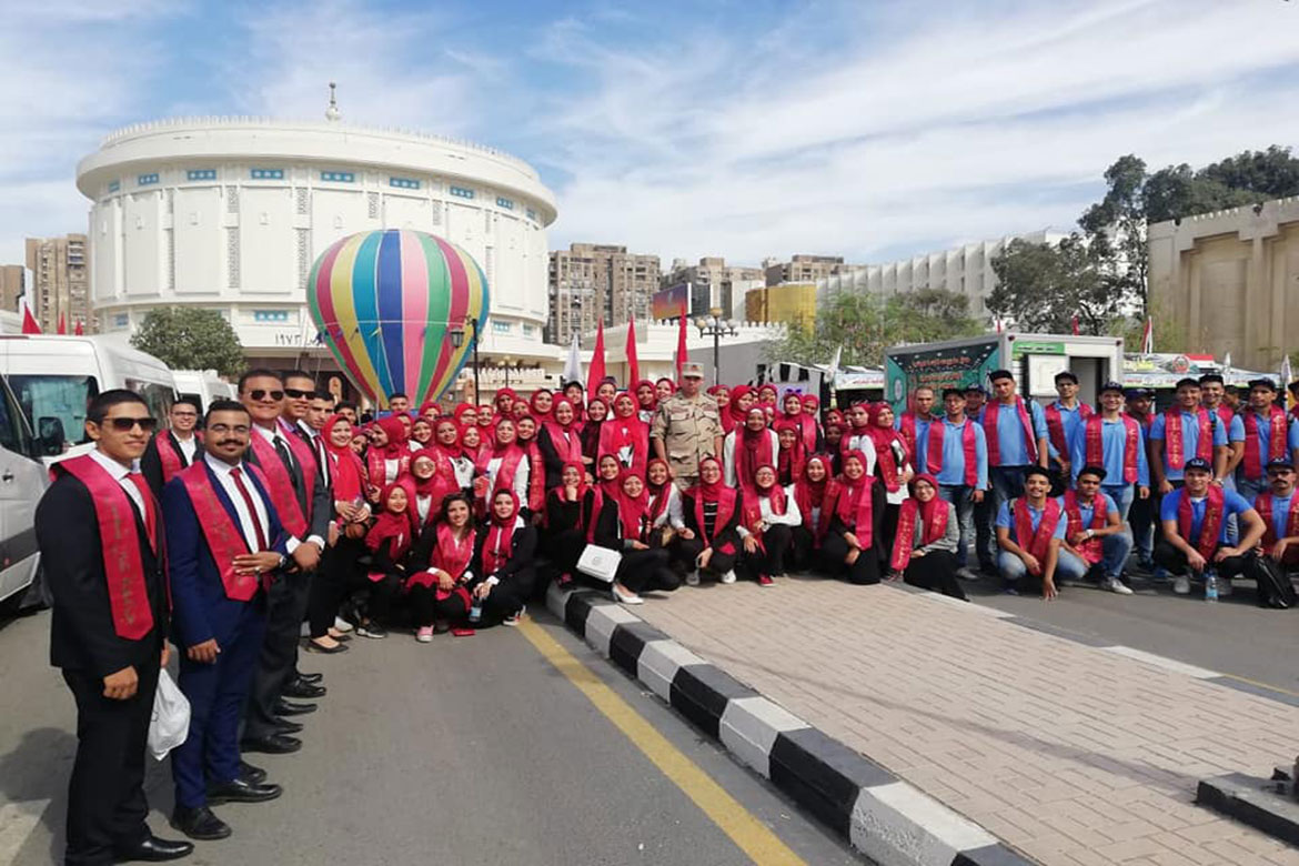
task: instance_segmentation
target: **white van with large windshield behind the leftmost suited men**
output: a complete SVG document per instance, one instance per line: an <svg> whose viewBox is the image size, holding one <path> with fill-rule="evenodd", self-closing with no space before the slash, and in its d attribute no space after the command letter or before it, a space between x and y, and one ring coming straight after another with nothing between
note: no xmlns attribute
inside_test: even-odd
<svg viewBox="0 0 1299 866"><path fill-rule="evenodd" d="M86 438L86 406L104 391L140 395L160 425L175 400L175 379L165 364L104 336L0 336L0 375L47 457Z"/></svg>

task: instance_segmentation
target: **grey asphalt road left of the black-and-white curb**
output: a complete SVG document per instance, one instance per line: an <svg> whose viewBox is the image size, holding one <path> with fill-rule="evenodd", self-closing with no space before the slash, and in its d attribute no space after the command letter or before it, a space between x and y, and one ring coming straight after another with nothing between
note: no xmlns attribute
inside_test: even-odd
<svg viewBox="0 0 1299 866"><path fill-rule="evenodd" d="M303 718L303 750L248 756L284 796L217 808L234 836L199 843L184 862L722 866L753 862L746 841L795 854L759 862L861 862L548 614L534 622L577 660L570 671L612 688L725 793L705 783L687 796L518 630L430 645L394 632L304 657L330 693ZM62 850L74 714L48 666L48 613L0 623L0 863L57 862ZM149 761L151 826L175 837L170 773ZM692 797L738 815L740 841Z"/></svg>

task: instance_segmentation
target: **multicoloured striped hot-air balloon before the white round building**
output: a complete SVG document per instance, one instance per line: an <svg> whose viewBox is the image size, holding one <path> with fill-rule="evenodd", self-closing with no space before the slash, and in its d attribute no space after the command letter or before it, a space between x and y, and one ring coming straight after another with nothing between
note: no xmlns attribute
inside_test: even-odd
<svg viewBox="0 0 1299 866"><path fill-rule="evenodd" d="M362 231L321 253L307 279L316 327L339 366L379 406L440 397L487 323L487 278L448 240L387 229ZM452 332L461 331L456 348Z"/></svg>

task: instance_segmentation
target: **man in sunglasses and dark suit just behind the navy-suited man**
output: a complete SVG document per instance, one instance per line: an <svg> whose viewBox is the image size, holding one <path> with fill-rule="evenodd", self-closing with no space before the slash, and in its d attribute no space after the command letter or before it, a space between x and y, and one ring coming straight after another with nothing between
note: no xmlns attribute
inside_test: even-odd
<svg viewBox="0 0 1299 866"><path fill-rule="evenodd" d="M301 379L290 379L301 383ZM304 383L305 384L305 383ZM305 682L295 674L297 636L310 597L312 573L320 565L329 532L330 491L320 476L310 447L286 428L282 413L290 402L309 401L290 397L278 373L256 369L239 379L239 400L252 418L247 460L269 482L268 492L288 535L286 551L292 560L268 595L266 637L248 699L242 747L244 752L284 754L301 748L301 740L288 736L281 717L309 713L310 704L288 704L286 697L322 697L323 686Z"/></svg>

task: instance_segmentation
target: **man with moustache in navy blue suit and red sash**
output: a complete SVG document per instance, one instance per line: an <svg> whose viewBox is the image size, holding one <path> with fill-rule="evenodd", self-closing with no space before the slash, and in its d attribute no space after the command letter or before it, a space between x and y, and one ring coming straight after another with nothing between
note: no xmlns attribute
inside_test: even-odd
<svg viewBox="0 0 1299 866"><path fill-rule="evenodd" d="M266 634L265 587L287 558L265 476L244 460L251 434L242 404L214 401L204 453L162 492L173 637L190 700L190 735L171 753L171 826L191 839L230 835L209 806L281 793L239 760L239 721Z"/></svg>

